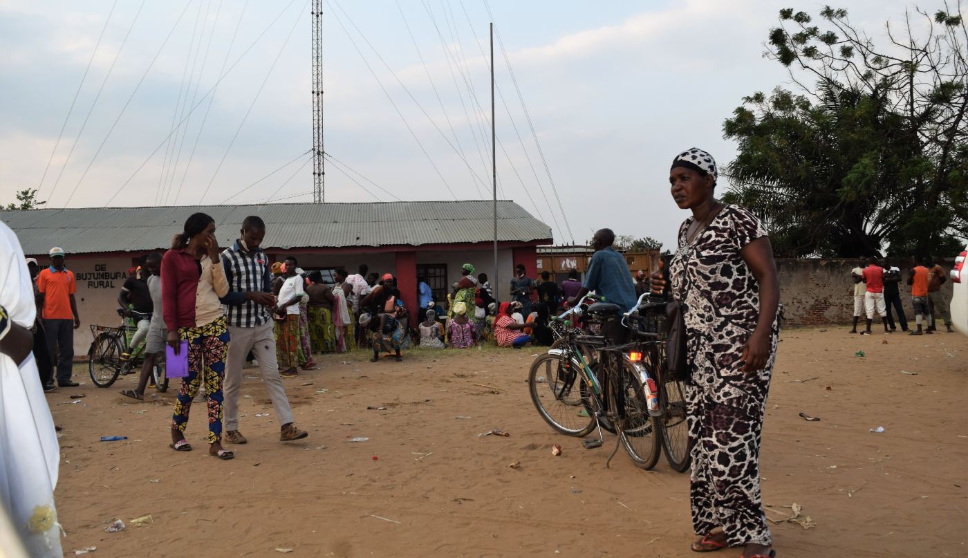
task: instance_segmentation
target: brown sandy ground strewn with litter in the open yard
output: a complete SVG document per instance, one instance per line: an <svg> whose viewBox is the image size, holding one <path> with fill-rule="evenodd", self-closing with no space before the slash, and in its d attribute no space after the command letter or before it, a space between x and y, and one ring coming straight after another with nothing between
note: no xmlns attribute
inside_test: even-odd
<svg viewBox="0 0 968 558"><path fill-rule="evenodd" d="M888 340L889 344L882 341ZM863 351L865 356L855 356ZM539 418L533 350L412 352L372 364L325 356L287 380L308 439L278 442L257 369L246 369L236 458L207 456L203 407L168 449L174 389L146 403L84 386L48 394L64 430L57 507L68 555L690 556L688 478L587 450ZM905 374L901 371L913 372ZM762 449L765 502L816 522L772 526L777 555L965 556L968 339L785 333ZM498 387L491 389L477 384ZM68 404L69 394L83 393ZM149 389L149 394L156 394ZM368 406L386 410L368 410ZM800 412L820 417L808 422ZM257 417L257 415L268 414ZM883 433L870 428L883 426ZM510 437L478 437L501 428ZM124 435L124 442L99 442ZM369 441L350 443L363 436ZM563 454L552 455L560 444ZM520 461L511 469L508 464ZM151 515L153 522L130 521ZM114 518L129 523L106 533ZM736 557L739 549L717 553Z"/></svg>

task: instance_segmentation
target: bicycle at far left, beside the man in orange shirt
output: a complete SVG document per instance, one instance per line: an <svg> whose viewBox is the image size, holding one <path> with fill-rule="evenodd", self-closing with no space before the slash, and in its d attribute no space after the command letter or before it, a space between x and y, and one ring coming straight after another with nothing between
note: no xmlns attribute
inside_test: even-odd
<svg viewBox="0 0 968 558"><path fill-rule="evenodd" d="M123 308L118 308L117 312L121 316L120 326L91 325L91 335L94 337L94 341L91 342L91 347L87 351L87 371L91 376L91 381L97 387L111 387L122 371L130 373L140 367L144 359L144 343L138 345L134 351L129 345L128 332L135 327L128 325ZM131 313L136 320L146 320L151 316L134 310ZM129 353L130 357L122 360L121 355L125 353ZM167 390L168 379L165 374L164 362L155 363L152 368L152 377L159 391Z"/></svg>

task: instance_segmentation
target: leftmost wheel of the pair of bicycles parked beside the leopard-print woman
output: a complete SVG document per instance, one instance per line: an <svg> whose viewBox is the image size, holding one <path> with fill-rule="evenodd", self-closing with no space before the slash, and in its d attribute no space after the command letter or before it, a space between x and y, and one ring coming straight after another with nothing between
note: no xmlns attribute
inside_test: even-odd
<svg viewBox="0 0 968 558"><path fill-rule="evenodd" d="M534 359L528 375L531 401L538 415L561 434L585 436L595 426L594 415L584 404L578 363L558 355Z"/></svg>

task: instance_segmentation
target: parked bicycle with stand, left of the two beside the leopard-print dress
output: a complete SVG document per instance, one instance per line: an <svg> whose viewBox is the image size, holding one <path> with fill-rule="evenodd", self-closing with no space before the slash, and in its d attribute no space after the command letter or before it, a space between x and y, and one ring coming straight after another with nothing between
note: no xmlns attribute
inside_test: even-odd
<svg viewBox="0 0 968 558"><path fill-rule="evenodd" d="M566 341L531 364L531 401L538 414L562 434L586 436L597 428L598 440L583 443L588 449L604 444L601 430L611 423L619 441L606 467L621 445L636 466L651 469L660 453L661 434L652 417L658 411L657 399L654 392L647 393L650 384L644 374L648 370L637 367L630 357L642 344L623 343L626 331L618 305L600 301L586 306L585 300L576 308L596 321L602 334L566 328ZM599 356L597 361L590 361L590 353Z"/></svg>

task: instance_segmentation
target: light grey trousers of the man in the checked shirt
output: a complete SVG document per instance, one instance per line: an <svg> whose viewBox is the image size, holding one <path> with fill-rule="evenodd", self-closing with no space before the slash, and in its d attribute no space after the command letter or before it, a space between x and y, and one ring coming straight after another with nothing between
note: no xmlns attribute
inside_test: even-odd
<svg viewBox="0 0 968 558"><path fill-rule="evenodd" d="M276 410L279 425L292 422L292 408L289 406L283 381L279 378L272 321L256 327L229 325L228 335L232 342L228 344L226 380L222 387L225 397L223 423L226 431L239 429L239 389L242 387L242 366L249 351L252 351L258 360L258 367L262 370L262 382L269 390L269 399L272 400L272 407Z"/></svg>

